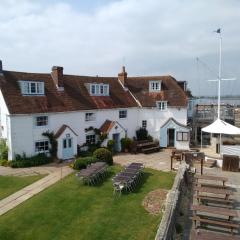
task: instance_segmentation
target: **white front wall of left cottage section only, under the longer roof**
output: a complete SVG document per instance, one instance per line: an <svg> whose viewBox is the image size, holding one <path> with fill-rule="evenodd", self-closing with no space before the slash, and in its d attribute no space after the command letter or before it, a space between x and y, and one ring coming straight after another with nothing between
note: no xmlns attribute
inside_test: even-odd
<svg viewBox="0 0 240 240"><path fill-rule="evenodd" d="M13 159L16 153L31 156L35 154L35 141L47 139L42 136L42 133L49 130L55 133L58 129L66 124L77 133L77 143L82 145L86 141L85 128L93 126L100 128L106 119L112 121L118 121L126 130L129 137L135 135L137 129L136 116L138 115L138 109L127 109L127 118L119 119L119 109L110 110L96 110L96 111L82 111L82 112L68 112L68 113L48 113L48 114L33 114L33 115L12 115L11 127L12 127L12 149L9 159ZM85 121L86 112L95 112L95 121ZM36 116L48 116L48 126L36 127Z"/></svg>

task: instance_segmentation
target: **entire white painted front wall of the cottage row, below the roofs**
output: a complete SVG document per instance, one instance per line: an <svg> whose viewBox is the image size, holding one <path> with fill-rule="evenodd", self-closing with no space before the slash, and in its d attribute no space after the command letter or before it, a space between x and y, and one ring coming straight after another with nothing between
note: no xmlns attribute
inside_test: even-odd
<svg viewBox="0 0 240 240"><path fill-rule="evenodd" d="M127 109L127 118L119 119L119 110L121 109L107 109L107 110L90 110L81 112L67 112L67 113L47 113L47 114L28 114L28 115L11 115L9 120L9 142L10 151L9 159L13 159L15 154L22 154L31 156L35 155L35 141L47 139L42 136L42 133L49 130L57 130L66 124L77 133L77 143L82 145L86 140L85 128L90 126L100 128L105 120L119 122L126 130L127 136L132 138L135 136L136 130L142 126L142 120L147 120L147 130L154 139L160 139L160 128L170 118L173 117L176 121L187 123L186 108L168 108L165 111L149 108L131 108ZM85 121L86 112L95 112L95 121ZM36 116L48 116L48 126L36 127ZM121 135L121 137L123 134ZM124 133L125 136L125 133ZM60 153L59 153L60 154Z"/></svg>

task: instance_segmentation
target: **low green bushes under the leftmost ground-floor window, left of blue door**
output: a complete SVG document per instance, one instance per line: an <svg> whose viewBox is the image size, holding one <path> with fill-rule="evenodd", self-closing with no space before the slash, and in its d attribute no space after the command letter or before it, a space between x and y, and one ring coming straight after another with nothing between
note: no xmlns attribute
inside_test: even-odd
<svg viewBox="0 0 240 240"><path fill-rule="evenodd" d="M32 157L26 157L26 154L23 155L17 154L15 160L10 162L12 168L23 168L23 167L33 167L52 162L52 158L48 157L44 153L39 153Z"/></svg>

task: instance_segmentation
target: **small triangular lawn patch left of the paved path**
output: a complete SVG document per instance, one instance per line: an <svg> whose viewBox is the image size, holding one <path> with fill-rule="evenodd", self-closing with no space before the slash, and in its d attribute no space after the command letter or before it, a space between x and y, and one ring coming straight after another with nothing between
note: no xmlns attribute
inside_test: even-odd
<svg viewBox="0 0 240 240"><path fill-rule="evenodd" d="M15 177L0 176L0 200L39 180L43 175Z"/></svg>

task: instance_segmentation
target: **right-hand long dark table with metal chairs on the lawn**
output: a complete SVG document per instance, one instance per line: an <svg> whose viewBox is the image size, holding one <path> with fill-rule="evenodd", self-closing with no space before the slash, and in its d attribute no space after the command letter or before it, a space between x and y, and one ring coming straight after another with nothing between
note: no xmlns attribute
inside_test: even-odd
<svg viewBox="0 0 240 240"><path fill-rule="evenodd" d="M122 191L132 192L139 184L143 175L144 165L142 163L131 163L113 179L114 194Z"/></svg>

